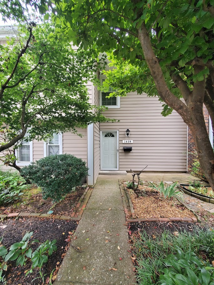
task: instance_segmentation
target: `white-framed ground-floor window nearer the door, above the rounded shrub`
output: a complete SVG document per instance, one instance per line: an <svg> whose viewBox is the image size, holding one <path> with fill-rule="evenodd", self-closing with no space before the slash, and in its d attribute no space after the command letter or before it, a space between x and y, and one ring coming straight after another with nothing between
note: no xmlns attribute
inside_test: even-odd
<svg viewBox="0 0 214 285"><path fill-rule="evenodd" d="M53 137L44 143L44 156L62 154L62 134L54 134Z"/></svg>

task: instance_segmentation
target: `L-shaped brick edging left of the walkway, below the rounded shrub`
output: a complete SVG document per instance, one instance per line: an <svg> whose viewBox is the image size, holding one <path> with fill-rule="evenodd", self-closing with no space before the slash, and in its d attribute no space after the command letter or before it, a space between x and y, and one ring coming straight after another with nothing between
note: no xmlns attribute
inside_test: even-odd
<svg viewBox="0 0 214 285"><path fill-rule="evenodd" d="M60 220L72 220L72 221L80 221L83 211L87 205L87 202L91 196L91 192L93 188L87 187L85 192L82 194L79 202L77 203L74 211L71 216L60 216L53 214L39 214L39 213L27 213L27 212L17 212L10 213L8 215L0 215L0 218L16 218L16 217L37 217L37 218L50 218L50 219L60 219Z"/></svg>

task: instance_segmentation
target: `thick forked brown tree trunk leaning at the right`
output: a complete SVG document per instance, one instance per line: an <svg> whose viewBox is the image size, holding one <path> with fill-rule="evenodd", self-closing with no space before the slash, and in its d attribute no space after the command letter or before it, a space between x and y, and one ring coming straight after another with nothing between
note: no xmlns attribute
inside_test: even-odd
<svg viewBox="0 0 214 285"><path fill-rule="evenodd" d="M141 43L145 60L148 64L151 75L154 79L155 86L161 99L164 100L171 108L173 108L189 126L196 145L198 160L201 168L209 181L211 188L214 190L214 152L207 134L206 125L203 116L203 96L199 96L199 88L195 89L195 95L192 94L192 101L186 106L180 99L171 93L165 82L163 72L156 58L149 33L143 23L138 31L138 39ZM205 85L205 84L204 84ZM196 84L197 86L197 84ZM194 85L195 87L195 85ZM205 87L204 87L205 91Z"/></svg>

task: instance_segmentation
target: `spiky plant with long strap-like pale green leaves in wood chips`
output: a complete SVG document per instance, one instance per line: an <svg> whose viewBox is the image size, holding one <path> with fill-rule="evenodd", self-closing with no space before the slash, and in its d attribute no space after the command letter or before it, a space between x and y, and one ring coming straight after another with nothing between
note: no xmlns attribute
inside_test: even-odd
<svg viewBox="0 0 214 285"><path fill-rule="evenodd" d="M164 198L171 198L175 197L177 199L183 200L183 191L180 191L176 188L178 182L173 183L172 185L164 186L164 182L161 181L158 186L156 186L154 183L149 182L149 186L157 191L160 192L160 196L162 197L162 194Z"/></svg>

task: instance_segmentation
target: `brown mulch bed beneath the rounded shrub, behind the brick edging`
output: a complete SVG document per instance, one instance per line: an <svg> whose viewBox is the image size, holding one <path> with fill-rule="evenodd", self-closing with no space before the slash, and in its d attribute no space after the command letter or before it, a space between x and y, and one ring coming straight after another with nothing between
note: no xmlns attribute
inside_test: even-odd
<svg viewBox="0 0 214 285"><path fill-rule="evenodd" d="M0 214L9 214L14 212L35 212L47 214L49 210L54 211L53 215L71 216L80 197L86 189L76 187L76 191L67 194L65 200L58 203L52 203L51 199L42 199L42 194L37 187L24 190L18 201L11 205L0 207Z"/></svg>

